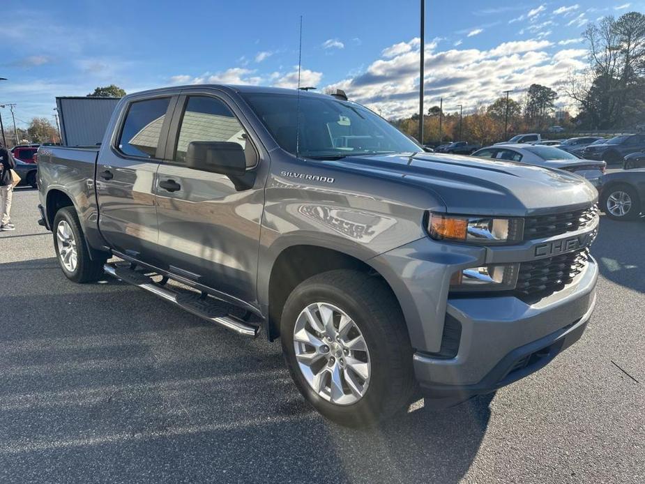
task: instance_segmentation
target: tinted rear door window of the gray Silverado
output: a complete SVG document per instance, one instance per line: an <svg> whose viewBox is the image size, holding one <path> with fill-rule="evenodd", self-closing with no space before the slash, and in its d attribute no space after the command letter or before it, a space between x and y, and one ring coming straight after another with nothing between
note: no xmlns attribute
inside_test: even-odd
<svg viewBox="0 0 645 484"><path fill-rule="evenodd" d="M170 98L135 101L128 108L119 137L119 151L129 156L155 158Z"/></svg>

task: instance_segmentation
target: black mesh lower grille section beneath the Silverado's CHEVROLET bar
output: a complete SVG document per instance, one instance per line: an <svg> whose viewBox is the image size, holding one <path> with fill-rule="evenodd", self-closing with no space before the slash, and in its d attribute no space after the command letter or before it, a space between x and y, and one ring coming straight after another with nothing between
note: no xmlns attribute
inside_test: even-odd
<svg viewBox="0 0 645 484"><path fill-rule="evenodd" d="M524 295L547 296L570 284L582 273L589 260L589 249L519 264L516 290Z"/></svg>

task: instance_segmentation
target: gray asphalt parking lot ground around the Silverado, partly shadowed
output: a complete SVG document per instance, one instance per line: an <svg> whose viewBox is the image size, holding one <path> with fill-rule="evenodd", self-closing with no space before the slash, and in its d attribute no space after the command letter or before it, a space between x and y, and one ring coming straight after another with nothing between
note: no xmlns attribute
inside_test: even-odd
<svg viewBox="0 0 645 484"><path fill-rule="evenodd" d="M547 368L356 431L304 403L278 343L69 282L37 200L17 190L0 233L2 483L645 482L645 220L602 218L595 315Z"/></svg>

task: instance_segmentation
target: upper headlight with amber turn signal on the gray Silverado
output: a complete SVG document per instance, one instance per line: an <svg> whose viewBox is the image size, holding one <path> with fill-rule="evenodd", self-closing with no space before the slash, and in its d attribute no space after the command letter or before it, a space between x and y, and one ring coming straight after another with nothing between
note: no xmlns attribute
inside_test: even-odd
<svg viewBox="0 0 645 484"><path fill-rule="evenodd" d="M430 213L428 232L432 239L490 245L522 241L521 218L463 217Z"/></svg>

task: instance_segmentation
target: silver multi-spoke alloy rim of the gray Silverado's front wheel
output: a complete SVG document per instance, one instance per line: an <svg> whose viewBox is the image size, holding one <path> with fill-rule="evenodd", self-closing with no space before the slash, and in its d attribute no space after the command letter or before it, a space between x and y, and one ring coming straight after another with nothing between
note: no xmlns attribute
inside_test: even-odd
<svg viewBox="0 0 645 484"><path fill-rule="evenodd" d="M370 351L363 333L346 312L329 303L312 303L294 326L298 368L324 400L350 405L370 384Z"/></svg>

